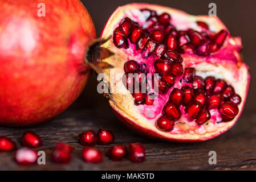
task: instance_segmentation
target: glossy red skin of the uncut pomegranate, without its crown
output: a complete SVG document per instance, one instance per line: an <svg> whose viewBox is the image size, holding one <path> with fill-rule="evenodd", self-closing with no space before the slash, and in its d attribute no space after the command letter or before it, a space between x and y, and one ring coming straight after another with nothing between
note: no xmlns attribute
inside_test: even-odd
<svg viewBox="0 0 256 182"><path fill-rule="evenodd" d="M0 0L0 125L29 126L62 113L84 89L83 57L96 37L79 0Z"/></svg>

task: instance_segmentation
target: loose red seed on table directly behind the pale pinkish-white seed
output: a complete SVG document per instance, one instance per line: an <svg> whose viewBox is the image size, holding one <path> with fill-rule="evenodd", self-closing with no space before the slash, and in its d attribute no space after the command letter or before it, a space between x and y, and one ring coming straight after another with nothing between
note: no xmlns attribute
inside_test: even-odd
<svg viewBox="0 0 256 182"><path fill-rule="evenodd" d="M42 146L42 140L33 131L26 131L22 136L22 144L26 147L36 148Z"/></svg>

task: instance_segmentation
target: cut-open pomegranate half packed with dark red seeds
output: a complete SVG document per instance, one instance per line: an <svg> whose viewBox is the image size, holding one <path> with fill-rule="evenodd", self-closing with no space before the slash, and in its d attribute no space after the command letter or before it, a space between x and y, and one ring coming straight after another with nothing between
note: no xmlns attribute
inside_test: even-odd
<svg viewBox="0 0 256 182"><path fill-rule="evenodd" d="M118 7L101 38L109 104L122 122L157 139L195 142L225 133L238 121L249 88L241 38L217 17L158 5Z"/></svg>

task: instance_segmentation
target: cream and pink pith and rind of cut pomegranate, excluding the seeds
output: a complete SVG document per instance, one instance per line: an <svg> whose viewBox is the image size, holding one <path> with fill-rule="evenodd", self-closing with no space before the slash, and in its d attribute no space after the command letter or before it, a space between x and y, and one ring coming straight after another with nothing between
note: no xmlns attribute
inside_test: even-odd
<svg viewBox="0 0 256 182"><path fill-rule="evenodd" d="M214 32L219 32L222 29L227 30L221 20L217 17L192 16L169 7L135 3L121 6L112 14L102 32L101 38L108 38L108 36L113 35L113 31L125 17L131 18L140 25L145 23L145 18L141 15L140 9L155 10L159 15L168 13L172 17L170 23L172 23L177 30L192 28L193 30L200 31L196 24L197 21L208 23L209 29ZM155 122L162 116L162 108L168 101L172 89L181 89L180 82L176 81L176 84L169 89L166 94L162 95L162 97L157 97L153 106L136 106L134 104L134 98L125 88L121 80L124 75L124 63L128 60L136 60L138 63L146 63L149 65L148 63L151 62L150 60L153 60L152 56L148 57L148 59L143 59L140 55L140 51L135 50L135 44L129 44L128 49L119 49L115 47L112 39L103 44L103 47L109 48L115 53L114 56L103 60L104 62L115 66L113 69L103 70L103 73L108 75L111 90L113 92L109 99L109 104L127 126L139 131L140 134L159 139L185 142L208 140L229 130L242 113L243 105L246 101L250 76L247 71L247 65L243 63L238 52L242 47L240 38L227 36L222 48L210 56L200 57L189 53L181 55L184 59L182 63L184 70L185 68L193 67L196 69L197 76L203 78L214 76L215 78L225 80L227 84L233 86L235 93L239 94L242 98L242 103L238 105L238 115L230 122L220 122L222 118L218 113L218 109L213 109L210 110L212 118L204 125L200 126L196 122L190 121L188 114L184 113L185 111L181 106L182 116L175 122L174 129L168 133L157 129ZM154 68L152 67L150 69Z"/></svg>

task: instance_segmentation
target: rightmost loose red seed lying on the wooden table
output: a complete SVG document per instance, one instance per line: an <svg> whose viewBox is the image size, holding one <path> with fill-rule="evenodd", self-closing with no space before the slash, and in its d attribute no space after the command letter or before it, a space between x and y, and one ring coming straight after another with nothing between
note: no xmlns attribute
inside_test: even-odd
<svg viewBox="0 0 256 182"><path fill-rule="evenodd" d="M140 163L145 160L146 152L145 148L141 143L130 143L129 144L129 159L133 163Z"/></svg>

